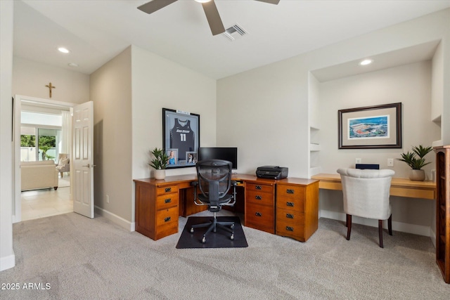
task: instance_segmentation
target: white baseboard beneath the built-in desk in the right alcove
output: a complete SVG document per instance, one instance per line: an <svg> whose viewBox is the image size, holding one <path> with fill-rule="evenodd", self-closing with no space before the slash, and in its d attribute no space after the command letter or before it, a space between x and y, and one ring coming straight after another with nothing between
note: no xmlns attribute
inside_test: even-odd
<svg viewBox="0 0 450 300"><path fill-rule="evenodd" d="M336 211L321 210L321 211L319 211L319 216L321 218L323 217L323 218L327 218L327 219L340 220L340 221L344 221L344 222L346 219L344 213L340 213L340 212L336 212ZM377 220L359 218L358 216L352 217L352 223L378 228ZM385 228L387 228L387 221L384 223L384 226L385 226ZM432 238L432 230L431 230L430 226L421 226L421 225L392 221L392 230L401 231L402 233L413 233L415 235L424 235L425 237ZM436 242L436 237L435 237L435 242ZM434 242L434 244L435 244L435 242Z"/></svg>

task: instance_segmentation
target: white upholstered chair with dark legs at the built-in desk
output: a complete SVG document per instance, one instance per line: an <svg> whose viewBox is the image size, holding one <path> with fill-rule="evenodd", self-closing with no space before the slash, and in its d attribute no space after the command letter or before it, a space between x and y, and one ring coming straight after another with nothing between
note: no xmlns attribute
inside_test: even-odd
<svg viewBox="0 0 450 300"><path fill-rule="evenodd" d="M344 211L347 214L347 240L352 231L352 216L378 220L380 247L383 248L383 220L387 220L392 235L392 214L389 201L391 178L395 172L390 169L338 169L344 195Z"/></svg>

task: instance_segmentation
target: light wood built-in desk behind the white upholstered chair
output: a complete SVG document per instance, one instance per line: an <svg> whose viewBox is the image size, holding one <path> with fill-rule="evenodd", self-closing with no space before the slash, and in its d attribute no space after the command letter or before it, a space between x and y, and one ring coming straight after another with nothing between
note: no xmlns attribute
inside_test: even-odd
<svg viewBox="0 0 450 300"><path fill-rule="evenodd" d="M319 180L319 188L342 190L339 174L317 174L311 178ZM436 183L433 181L411 181L408 178L392 177L390 195L435 200Z"/></svg>

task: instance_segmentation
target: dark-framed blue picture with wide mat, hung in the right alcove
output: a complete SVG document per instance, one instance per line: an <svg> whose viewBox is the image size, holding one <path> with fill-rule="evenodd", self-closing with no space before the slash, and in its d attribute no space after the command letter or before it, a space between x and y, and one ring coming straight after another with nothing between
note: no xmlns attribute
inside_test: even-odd
<svg viewBox="0 0 450 300"><path fill-rule="evenodd" d="M401 103L338 110L339 149L401 148Z"/></svg>

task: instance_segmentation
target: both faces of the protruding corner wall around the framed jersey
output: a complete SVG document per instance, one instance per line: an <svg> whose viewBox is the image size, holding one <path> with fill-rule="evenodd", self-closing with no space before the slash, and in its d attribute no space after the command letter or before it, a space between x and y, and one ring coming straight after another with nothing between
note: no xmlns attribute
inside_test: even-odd
<svg viewBox="0 0 450 300"><path fill-rule="evenodd" d="M215 143L215 80L136 46L91 74L96 211L134 228L134 178L162 148L162 107L200 115L200 144ZM167 170L167 176L195 169ZM106 202L106 197L109 203Z"/></svg>

